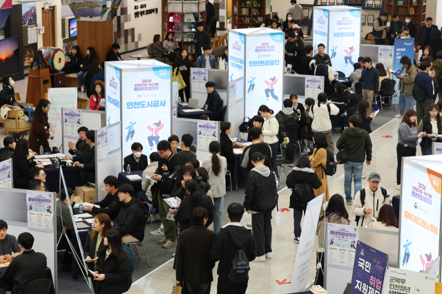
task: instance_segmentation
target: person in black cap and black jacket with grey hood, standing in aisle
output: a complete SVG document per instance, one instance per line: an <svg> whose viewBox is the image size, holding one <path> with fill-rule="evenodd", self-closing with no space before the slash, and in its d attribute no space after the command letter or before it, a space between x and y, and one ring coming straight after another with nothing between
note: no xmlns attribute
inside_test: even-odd
<svg viewBox="0 0 442 294"><path fill-rule="evenodd" d="M256 241L256 262L271 258L271 211L276 207L276 179L264 165L260 152L251 156L253 169L247 175L244 209L251 213L253 238Z"/></svg>

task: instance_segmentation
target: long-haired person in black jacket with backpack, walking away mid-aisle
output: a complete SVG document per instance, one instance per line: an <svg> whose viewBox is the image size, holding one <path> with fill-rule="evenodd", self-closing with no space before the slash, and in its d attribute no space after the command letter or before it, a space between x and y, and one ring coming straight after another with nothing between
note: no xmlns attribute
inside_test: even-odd
<svg viewBox="0 0 442 294"><path fill-rule="evenodd" d="M301 236L302 211L305 213L307 203L316 197L313 189L318 189L323 183L311 169L309 158L301 156L287 176L286 184L287 188L291 189L289 208L293 209L295 243L298 244Z"/></svg>

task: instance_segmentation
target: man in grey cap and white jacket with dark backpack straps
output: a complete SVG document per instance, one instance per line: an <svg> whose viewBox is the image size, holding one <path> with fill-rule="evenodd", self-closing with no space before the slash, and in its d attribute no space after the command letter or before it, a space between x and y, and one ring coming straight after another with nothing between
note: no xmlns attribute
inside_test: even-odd
<svg viewBox="0 0 442 294"><path fill-rule="evenodd" d="M379 187L381 175L374 172L368 176L368 187L354 196L352 211L356 216L356 226L367 227L377 218L383 204L392 204L392 196L387 189Z"/></svg>

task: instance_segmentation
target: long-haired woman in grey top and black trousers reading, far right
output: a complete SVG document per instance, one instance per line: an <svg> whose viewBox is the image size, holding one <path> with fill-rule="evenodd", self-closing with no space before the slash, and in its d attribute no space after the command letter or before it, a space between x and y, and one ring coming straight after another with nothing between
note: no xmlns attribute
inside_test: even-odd
<svg viewBox="0 0 442 294"><path fill-rule="evenodd" d="M398 128L398 145L396 154L398 157L398 167L396 169L396 189L401 190L402 158L416 156L417 139L425 136L425 133L419 133L416 124L416 112L408 109L403 115L401 125Z"/></svg>

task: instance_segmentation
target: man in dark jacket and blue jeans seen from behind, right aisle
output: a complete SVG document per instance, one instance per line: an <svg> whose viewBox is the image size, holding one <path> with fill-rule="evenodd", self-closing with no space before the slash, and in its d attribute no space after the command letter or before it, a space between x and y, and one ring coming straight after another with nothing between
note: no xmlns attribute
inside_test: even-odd
<svg viewBox="0 0 442 294"><path fill-rule="evenodd" d="M344 163L344 191L347 205L352 204L352 178L354 180L354 194L362 189L362 171L364 161L367 166L372 163L372 140L364 129L361 129L361 118L351 116L347 129L340 135L336 148L345 149L348 160Z"/></svg>

